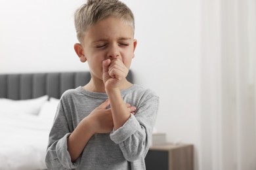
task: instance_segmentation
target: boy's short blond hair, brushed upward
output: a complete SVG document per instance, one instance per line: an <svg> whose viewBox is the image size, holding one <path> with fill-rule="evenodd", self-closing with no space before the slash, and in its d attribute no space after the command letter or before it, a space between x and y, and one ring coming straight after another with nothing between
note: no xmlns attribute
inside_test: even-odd
<svg viewBox="0 0 256 170"><path fill-rule="evenodd" d="M77 39L81 43L88 29L100 20L110 16L120 18L125 24L135 30L133 12L125 3L118 0L88 0L87 3L75 11L75 29Z"/></svg>

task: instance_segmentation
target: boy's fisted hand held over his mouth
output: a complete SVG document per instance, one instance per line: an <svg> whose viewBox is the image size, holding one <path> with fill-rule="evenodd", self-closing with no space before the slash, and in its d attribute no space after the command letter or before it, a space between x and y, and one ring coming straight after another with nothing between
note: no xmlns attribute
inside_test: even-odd
<svg viewBox="0 0 256 170"><path fill-rule="evenodd" d="M119 58L106 59L102 62L103 75L102 79L106 89L119 88L121 80L123 80L129 70Z"/></svg>

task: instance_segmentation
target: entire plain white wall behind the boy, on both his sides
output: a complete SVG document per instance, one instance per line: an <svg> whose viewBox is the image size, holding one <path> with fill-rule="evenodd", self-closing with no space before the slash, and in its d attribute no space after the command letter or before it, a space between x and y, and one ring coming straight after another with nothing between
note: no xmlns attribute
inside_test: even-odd
<svg viewBox="0 0 256 170"><path fill-rule="evenodd" d="M83 71L74 10L83 1L0 0L0 73ZM200 152L200 0L128 1L138 40L131 69L137 84L160 95L156 122L168 141Z"/></svg>

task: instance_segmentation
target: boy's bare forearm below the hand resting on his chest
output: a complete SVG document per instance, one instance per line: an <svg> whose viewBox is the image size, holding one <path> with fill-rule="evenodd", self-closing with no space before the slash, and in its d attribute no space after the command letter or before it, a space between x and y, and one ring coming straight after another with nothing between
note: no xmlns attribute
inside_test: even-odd
<svg viewBox="0 0 256 170"><path fill-rule="evenodd" d="M72 161L80 156L92 135L90 121L88 118L84 118L68 137L68 152Z"/></svg>

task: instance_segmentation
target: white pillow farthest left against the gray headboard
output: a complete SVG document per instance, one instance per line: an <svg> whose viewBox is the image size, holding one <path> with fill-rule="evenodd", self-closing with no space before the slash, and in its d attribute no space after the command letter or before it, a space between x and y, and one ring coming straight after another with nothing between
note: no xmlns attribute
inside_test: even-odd
<svg viewBox="0 0 256 170"><path fill-rule="evenodd" d="M26 100L12 100L12 99L0 99L0 114L39 114L39 110L45 101L47 101L48 95L38 97L35 99Z"/></svg>

